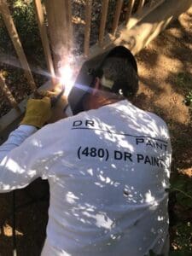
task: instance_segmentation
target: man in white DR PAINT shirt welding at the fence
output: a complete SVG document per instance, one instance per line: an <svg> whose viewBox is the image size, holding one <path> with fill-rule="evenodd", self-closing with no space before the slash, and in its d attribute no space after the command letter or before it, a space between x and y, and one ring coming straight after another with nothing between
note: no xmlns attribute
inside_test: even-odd
<svg viewBox="0 0 192 256"><path fill-rule="evenodd" d="M138 78L128 49L112 49L93 77L73 87L73 116L43 128L50 99L29 100L0 147L0 191L48 179L43 256L168 255L167 126L131 103Z"/></svg>

